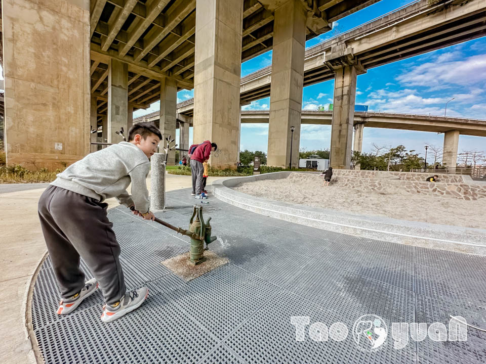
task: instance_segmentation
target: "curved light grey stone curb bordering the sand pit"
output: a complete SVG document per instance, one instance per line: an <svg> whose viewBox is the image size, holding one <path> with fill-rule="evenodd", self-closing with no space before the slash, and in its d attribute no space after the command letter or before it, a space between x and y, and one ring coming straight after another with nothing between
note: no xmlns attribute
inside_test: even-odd
<svg viewBox="0 0 486 364"><path fill-rule="evenodd" d="M232 187L260 179L287 178L290 171L237 177L213 182L213 195L233 206L313 228L370 239L486 256L486 230L405 221L319 209L256 198Z"/></svg>

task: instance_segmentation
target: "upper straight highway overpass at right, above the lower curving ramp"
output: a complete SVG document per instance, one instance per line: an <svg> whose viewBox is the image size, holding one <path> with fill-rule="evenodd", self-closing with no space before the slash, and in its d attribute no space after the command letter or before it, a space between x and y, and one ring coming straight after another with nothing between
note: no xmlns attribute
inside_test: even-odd
<svg viewBox="0 0 486 364"><path fill-rule="evenodd" d="M345 47L358 73L486 35L486 1L420 0L305 51L304 86L335 77L332 49ZM326 63L326 55L329 62ZM272 66L241 78L241 102L270 96Z"/></svg>

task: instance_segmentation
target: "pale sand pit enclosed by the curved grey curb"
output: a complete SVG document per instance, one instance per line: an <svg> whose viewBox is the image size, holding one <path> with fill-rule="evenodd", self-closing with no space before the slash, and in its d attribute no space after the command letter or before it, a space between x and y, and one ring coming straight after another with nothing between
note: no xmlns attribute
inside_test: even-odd
<svg viewBox="0 0 486 364"><path fill-rule="evenodd" d="M292 173L288 178L242 183L234 190L268 200L362 215L486 229L486 198L465 201L449 196L412 194L397 189L396 185L376 192L343 188L339 181L328 187L322 184L323 178L318 174Z"/></svg>

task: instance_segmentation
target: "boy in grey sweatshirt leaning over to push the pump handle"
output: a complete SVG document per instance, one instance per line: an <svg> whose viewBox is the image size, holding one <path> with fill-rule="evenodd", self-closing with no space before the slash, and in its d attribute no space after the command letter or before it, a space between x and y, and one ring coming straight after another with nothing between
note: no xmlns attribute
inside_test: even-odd
<svg viewBox="0 0 486 364"><path fill-rule="evenodd" d="M101 286L105 305L101 320L111 322L138 308L148 296L146 287L126 292L118 259L120 247L107 203L115 197L120 204L145 220L153 220L146 178L149 158L162 139L153 123L134 125L129 141L88 154L57 175L41 196L39 218L61 289L58 314L72 312ZM132 195L127 188L132 184ZM85 282L79 269L83 257L95 278Z"/></svg>

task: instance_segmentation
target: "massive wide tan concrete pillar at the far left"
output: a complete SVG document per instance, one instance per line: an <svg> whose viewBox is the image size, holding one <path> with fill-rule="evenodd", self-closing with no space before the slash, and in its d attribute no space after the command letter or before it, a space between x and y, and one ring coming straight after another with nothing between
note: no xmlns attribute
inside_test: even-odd
<svg viewBox="0 0 486 364"><path fill-rule="evenodd" d="M90 3L57 3L2 2L7 163L31 170L90 152Z"/></svg>

